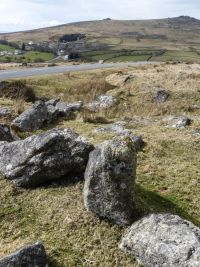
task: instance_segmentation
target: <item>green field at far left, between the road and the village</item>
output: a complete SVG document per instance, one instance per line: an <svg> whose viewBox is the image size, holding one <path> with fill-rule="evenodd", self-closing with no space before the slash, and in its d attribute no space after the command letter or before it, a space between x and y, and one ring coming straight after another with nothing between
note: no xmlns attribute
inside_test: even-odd
<svg viewBox="0 0 200 267"><path fill-rule="evenodd" d="M52 53L46 52L27 52L18 56L4 56L0 57L0 62L45 62L54 58Z"/></svg>

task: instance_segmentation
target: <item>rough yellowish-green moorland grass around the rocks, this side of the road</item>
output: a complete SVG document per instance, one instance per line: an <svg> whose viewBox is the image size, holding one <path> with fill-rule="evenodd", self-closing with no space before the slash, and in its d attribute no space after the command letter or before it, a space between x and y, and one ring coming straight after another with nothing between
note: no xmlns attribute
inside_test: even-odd
<svg viewBox="0 0 200 267"><path fill-rule="evenodd" d="M113 88L105 78L116 72L130 73L133 78ZM50 128L73 128L97 144L113 135L93 132L106 126L97 123L96 116L110 122L124 120L147 144L138 154L138 210L172 212L200 226L200 135L195 135L200 129L200 109L194 108L200 106L198 64L71 72L28 78L26 82L38 96L59 96L67 102L87 103L107 91L115 95L117 106L97 115L82 112L75 121L61 120ZM160 88L169 92L170 98L158 104L154 96ZM16 115L18 100L2 98L0 104L10 106L12 116ZM188 116L193 122L186 129L174 129L167 126L171 115ZM93 123L84 122L87 116ZM1 122L10 121L9 117ZM82 190L83 182L67 181L24 190L1 177L0 257L39 239L44 241L53 267L136 267L134 259L118 249L124 229L87 212Z"/></svg>

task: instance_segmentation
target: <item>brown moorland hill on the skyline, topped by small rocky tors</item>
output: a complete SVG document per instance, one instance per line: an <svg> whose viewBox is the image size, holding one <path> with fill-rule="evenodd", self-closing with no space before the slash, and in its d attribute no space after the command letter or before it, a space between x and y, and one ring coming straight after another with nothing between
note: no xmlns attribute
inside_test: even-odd
<svg viewBox="0 0 200 267"><path fill-rule="evenodd" d="M69 23L36 30L1 34L14 42L57 41L64 34L85 34L89 42L111 44L120 49L164 47L200 49L200 20L189 16L154 20L112 20Z"/></svg>

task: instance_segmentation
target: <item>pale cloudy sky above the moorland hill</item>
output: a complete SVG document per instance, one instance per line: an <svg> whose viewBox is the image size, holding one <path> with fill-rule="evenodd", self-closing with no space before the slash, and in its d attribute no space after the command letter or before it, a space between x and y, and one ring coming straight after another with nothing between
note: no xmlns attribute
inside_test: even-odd
<svg viewBox="0 0 200 267"><path fill-rule="evenodd" d="M200 0L0 0L0 32L106 17L152 19L180 15L200 19Z"/></svg>

